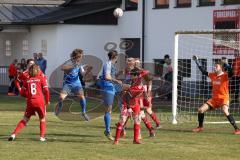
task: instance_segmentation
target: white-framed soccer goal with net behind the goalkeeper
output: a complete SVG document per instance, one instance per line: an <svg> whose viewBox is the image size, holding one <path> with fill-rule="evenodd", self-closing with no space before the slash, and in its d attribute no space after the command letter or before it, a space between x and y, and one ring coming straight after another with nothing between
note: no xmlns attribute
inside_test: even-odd
<svg viewBox="0 0 240 160"><path fill-rule="evenodd" d="M240 51L240 30L185 31L175 34L173 78L173 123L197 119L197 110L211 98L211 83L202 75L193 55L208 72L216 61L226 57L232 66ZM240 120L239 81L230 78L230 113ZM226 118L220 109L206 113L206 121L221 122Z"/></svg>

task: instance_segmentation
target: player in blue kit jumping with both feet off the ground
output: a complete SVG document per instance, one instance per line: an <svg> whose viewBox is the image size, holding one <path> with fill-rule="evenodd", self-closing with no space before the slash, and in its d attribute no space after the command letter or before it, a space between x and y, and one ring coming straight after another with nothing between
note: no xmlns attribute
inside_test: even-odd
<svg viewBox="0 0 240 160"><path fill-rule="evenodd" d="M82 116L86 121L89 117L86 114L86 98L84 96L83 87L79 79L79 74L84 74L84 69L80 65L83 57L82 49L75 49L70 55L71 59L61 66L64 71L63 88L60 92L58 104L55 107L55 114L58 115L63 107L63 100L71 93L76 95L80 100L82 108Z"/></svg>

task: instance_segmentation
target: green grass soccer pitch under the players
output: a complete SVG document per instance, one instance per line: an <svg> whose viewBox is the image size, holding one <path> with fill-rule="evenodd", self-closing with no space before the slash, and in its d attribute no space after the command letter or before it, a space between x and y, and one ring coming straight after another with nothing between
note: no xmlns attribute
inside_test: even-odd
<svg viewBox="0 0 240 160"><path fill-rule="evenodd" d="M196 122L172 125L163 122L155 138L148 138L142 127L143 143L133 145L132 122L128 125L127 137L119 145L112 145L103 135L103 119L90 122L63 121L47 113L48 141L39 141L38 120L33 117L16 141L7 138L23 116L24 99L0 95L0 159L14 160L70 160L70 159L116 159L116 160L239 160L240 136L232 134L229 124L207 124L203 133L191 129ZM53 104L53 103L52 103ZM118 114L113 114L112 127ZM115 133L115 128L112 129Z"/></svg>

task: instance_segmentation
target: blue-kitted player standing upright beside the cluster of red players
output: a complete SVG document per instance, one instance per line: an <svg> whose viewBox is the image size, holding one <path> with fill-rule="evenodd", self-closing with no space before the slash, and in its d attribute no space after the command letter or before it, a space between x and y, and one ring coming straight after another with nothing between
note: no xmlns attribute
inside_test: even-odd
<svg viewBox="0 0 240 160"><path fill-rule="evenodd" d="M108 53L108 61L103 65L102 73L99 77L100 86L103 94L103 101L105 108L104 122L105 122L105 136L109 140L114 140L110 133L111 126L111 111L114 101L114 96L116 93L122 90L122 81L117 80L116 77L116 67L115 63L118 59L117 51L110 51Z"/></svg>

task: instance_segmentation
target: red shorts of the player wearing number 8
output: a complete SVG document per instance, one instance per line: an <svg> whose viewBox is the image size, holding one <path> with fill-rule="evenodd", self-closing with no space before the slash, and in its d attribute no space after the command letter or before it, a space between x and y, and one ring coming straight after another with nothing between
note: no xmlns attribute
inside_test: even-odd
<svg viewBox="0 0 240 160"><path fill-rule="evenodd" d="M24 113L24 116L30 118L31 116L35 115L37 112L39 118L44 118L46 115L46 108L45 107L27 107Z"/></svg>

